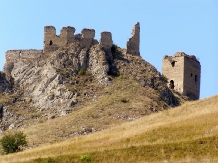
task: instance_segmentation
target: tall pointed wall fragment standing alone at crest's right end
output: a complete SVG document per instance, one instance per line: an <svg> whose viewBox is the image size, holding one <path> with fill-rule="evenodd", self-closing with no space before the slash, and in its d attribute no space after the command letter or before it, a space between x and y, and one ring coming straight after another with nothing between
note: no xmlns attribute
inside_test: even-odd
<svg viewBox="0 0 218 163"><path fill-rule="evenodd" d="M127 41L127 53L133 55L140 55L140 24L139 22L132 29L132 37Z"/></svg>

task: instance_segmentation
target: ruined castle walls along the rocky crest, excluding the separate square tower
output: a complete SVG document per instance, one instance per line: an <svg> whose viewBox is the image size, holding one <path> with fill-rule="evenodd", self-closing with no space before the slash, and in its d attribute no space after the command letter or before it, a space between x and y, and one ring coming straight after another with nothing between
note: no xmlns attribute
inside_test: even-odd
<svg viewBox="0 0 218 163"><path fill-rule="evenodd" d="M85 47L90 47L92 44L99 43L105 49L110 49L113 44L112 34L104 31L101 33L100 41L94 39L95 30L84 28L81 33L74 34L75 28L71 26L63 27L60 35L56 35L54 26L44 27L44 47L43 50L8 50L5 53L5 64L3 71L10 73L14 63L22 60L31 60L40 58L44 53L55 51L61 47L69 46L73 42L80 42ZM132 29L132 37L127 42L127 53L139 55L139 35L140 27L137 23Z"/></svg>

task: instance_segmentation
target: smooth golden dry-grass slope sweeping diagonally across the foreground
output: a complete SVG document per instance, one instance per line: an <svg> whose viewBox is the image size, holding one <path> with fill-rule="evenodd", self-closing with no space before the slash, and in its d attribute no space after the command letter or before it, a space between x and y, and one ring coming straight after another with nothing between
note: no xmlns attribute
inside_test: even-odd
<svg viewBox="0 0 218 163"><path fill-rule="evenodd" d="M217 117L218 96L214 96L101 132L1 156L0 162L218 162ZM46 123L58 125L58 119ZM25 133L43 134L41 130L35 126Z"/></svg>

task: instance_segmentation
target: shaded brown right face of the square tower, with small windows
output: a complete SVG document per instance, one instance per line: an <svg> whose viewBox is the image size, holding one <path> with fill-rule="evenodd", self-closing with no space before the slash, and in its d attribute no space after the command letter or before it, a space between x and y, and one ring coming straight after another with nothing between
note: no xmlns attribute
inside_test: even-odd
<svg viewBox="0 0 218 163"><path fill-rule="evenodd" d="M192 99L199 99L200 96L200 62L184 57L184 94Z"/></svg>

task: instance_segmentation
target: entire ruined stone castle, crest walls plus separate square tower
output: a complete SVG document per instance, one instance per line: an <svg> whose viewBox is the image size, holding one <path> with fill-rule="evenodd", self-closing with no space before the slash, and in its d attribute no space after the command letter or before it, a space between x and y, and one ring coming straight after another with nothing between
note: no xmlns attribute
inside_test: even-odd
<svg viewBox="0 0 218 163"><path fill-rule="evenodd" d="M44 27L43 50L8 50L5 54L4 72L10 73L14 63L19 60L35 61L45 53L53 52L59 48L69 46L74 42L89 48L100 44L104 49L111 50L113 45L112 34L104 31L99 42L95 40L95 30L84 28L81 33L74 34L74 27L63 27L60 35L56 35L53 26ZM140 24L137 22L132 29L132 37L126 43L126 53L140 55ZM201 65L195 56L177 52L173 57L165 56L162 61L162 73L169 79L169 86L192 99L199 99Z"/></svg>

